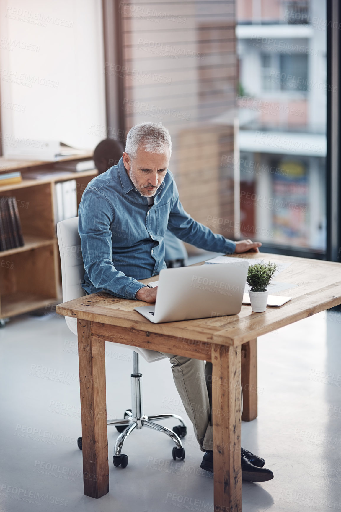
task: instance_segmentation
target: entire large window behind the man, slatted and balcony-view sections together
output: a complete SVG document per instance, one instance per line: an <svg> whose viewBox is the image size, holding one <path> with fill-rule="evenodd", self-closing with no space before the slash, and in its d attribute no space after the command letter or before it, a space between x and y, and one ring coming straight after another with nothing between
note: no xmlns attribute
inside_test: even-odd
<svg viewBox="0 0 341 512"><path fill-rule="evenodd" d="M225 237L325 254L325 2L120 3L125 131L169 128L181 202Z"/></svg>

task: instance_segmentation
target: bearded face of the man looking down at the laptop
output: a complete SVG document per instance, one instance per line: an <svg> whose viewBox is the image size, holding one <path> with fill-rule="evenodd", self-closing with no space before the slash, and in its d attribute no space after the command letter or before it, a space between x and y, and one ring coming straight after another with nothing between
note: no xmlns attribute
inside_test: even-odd
<svg viewBox="0 0 341 512"><path fill-rule="evenodd" d="M166 176L169 159L168 151L167 154L158 155L141 149L133 160L126 152L123 153L123 163L127 174L141 196L154 196Z"/></svg>

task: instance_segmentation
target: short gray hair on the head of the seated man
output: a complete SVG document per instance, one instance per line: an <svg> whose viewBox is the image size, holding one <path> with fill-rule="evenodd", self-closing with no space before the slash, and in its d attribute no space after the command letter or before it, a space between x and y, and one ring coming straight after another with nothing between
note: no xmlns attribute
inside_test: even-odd
<svg viewBox="0 0 341 512"><path fill-rule="evenodd" d="M166 148L172 154L172 141L169 131L162 123L140 123L133 126L128 135L125 151L133 160L140 147L148 153L162 155Z"/></svg>

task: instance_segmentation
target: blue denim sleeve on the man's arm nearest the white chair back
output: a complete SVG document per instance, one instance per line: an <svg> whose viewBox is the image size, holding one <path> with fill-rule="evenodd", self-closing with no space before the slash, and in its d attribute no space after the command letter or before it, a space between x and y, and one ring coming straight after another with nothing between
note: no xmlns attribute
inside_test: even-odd
<svg viewBox="0 0 341 512"><path fill-rule="evenodd" d="M117 297L135 298L136 292L145 285L129 278L113 265L110 231L113 221L115 212L110 201L95 188L87 188L78 211L84 268L96 288Z"/></svg>

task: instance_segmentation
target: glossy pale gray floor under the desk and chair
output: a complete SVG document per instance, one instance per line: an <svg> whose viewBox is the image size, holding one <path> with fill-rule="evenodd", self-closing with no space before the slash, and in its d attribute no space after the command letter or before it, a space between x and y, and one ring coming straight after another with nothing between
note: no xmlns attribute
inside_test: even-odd
<svg viewBox="0 0 341 512"><path fill-rule="evenodd" d="M340 323L341 313L323 312L259 338L259 415L242 423L242 446L275 478L243 482L245 512L341 510ZM2 512L213 511L213 479L199 468L191 425L184 462L173 462L170 439L142 429L126 441L124 470L112 465L117 432L109 426L109 494L84 496L76 336L56 314L22 315L0 330L0 342ZM120 417L130 407L132 352L106 349L107 411ZM146 413L188 421L169 360L141 367Z"/></svg>

